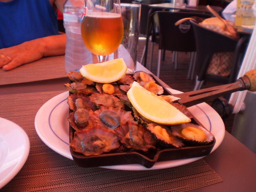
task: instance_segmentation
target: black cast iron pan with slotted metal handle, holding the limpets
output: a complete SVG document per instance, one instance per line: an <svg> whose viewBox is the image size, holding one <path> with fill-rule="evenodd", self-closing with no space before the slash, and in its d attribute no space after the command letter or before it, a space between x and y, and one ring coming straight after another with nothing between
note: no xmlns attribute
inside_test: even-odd
<svg viewBox="0 0 256 192"><path fill-rule="evenodd" d="M164 95L171 94L158 80L156 76L151 74L155 81L164 88ZM180 104L185 106L191 106L201 102L205 102L208 99L219 97L226 93L231 93L239 90L245 90L246 87L244 80L239 80L236 83L231 83L223 86L216 86L212 88L202 89L198 91L191 91L181 94L171 94L181 98ZM71 111L70 111L71 112ZM202 124L193 117L191 123L201 125ZM70 126L70 142L73 139L74 129ZM210 154L216 140L207 145L197 146L185 146L180 148L166 148L163 146L156 146L155 150L149 150L148 152L138 151L126 151L120 152L118 150L104 153L101 155L84 156L80 153L76 153L70 147L70 152L74 162L80 167L99 167L99 166L111 166L111 165L124 165L124 164L141 164L146 168L151 168L156 162L170 161L175 159L185 159L193 157L202 157Z"/></svg>

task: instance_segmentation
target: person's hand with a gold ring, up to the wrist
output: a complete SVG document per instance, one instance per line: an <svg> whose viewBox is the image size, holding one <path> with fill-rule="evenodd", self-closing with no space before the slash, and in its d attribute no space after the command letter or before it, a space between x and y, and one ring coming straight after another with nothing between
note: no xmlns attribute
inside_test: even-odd
<svg viewBox="0 0 256 192"><path fill-rule="evenodd" d="M0 49L0 68L11 70L25 63L42 58L40 39L26 41L20 45Z"/></svg>

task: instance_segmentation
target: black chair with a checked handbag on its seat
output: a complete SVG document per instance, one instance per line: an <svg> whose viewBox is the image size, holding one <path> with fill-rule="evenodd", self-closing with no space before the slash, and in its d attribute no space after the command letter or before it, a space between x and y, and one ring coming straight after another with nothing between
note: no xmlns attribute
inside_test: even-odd
<svg viewBox="0 0 256 192"><path fill-rule="evenodd" d="M218 32L209 30L195 22L190 22L194 29L196 40L196 67L197 80L194 90L201 88L205 80L218 83L232 83L236 80L241 56L246 50L249 37L244 36L241 39L233 39ZM234 52L234 59L231 73L228 77L206 74L212 56L220 52Z"/></svg>

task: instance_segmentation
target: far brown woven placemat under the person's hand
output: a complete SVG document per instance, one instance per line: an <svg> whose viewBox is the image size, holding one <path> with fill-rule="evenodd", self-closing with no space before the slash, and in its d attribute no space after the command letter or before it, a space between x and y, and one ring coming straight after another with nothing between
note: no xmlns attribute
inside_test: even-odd
<svg viewBox="0 0 256 192"><path fill-rule="evenodd" d="M0 68L0 85L66 77L65 56L44 57L10 71Z"/></svg>

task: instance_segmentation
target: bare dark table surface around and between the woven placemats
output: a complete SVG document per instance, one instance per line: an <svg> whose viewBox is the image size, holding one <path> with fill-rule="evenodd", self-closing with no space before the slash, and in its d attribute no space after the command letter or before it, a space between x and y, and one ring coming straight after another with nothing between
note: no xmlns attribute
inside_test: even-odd
<svg viewBox="0 0 256 192"><path fill-rule="evenodd" d="M140 68L145 69L141 65ZM145 71L147 70L145 69ZM65 91L66 88L63 84L67 83L67 81L67 78L59 78L3 85L0 86L0 98L3 94L53 90ZM220 146L203 159L223 179L223 182L195 189L193 191L256 191L256 154L227 131Z"/></svg>

